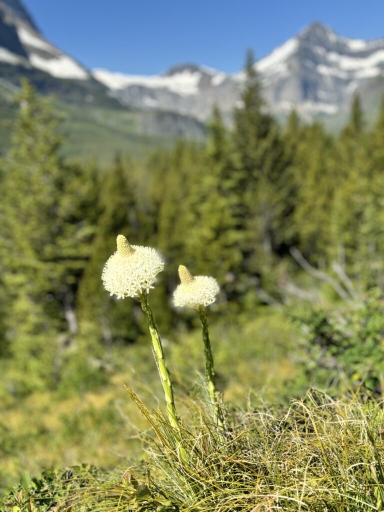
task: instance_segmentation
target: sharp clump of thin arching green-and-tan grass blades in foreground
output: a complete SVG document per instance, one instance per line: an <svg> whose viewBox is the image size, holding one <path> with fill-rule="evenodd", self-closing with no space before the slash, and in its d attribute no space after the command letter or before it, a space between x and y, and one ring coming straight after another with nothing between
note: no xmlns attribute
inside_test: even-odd
<svg viewBox="0 0 384 512"><path fill-rule="evenodd" d="M132 393L132 392L131 392ZM143 437L141 473L90 487L84 510L361 512L384 506L384 413L358 395L332 399L311 389L286 411L233 410L226 436L190 400L188 464L165 418L132 393L155 437Z"/></svg>

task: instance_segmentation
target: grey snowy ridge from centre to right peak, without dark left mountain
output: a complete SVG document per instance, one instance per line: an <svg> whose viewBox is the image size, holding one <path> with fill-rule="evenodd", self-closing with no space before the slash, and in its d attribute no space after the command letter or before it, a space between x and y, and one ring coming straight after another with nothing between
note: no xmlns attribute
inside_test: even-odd
<svg viewBox="0 0 384 512"><path fill-rule="evenodd" d="M370 89L372 79L384 92L384 38L340 36L314 22L257 61L255 68L273 113L286 115L295 109L306 120L345 115L352 96ZM123 104L186 112L201 121L209 118L214 102L229 116L244 83L242 71L226 74L195 63L179 64L158 75L103 69L92 74Z"/></svg>

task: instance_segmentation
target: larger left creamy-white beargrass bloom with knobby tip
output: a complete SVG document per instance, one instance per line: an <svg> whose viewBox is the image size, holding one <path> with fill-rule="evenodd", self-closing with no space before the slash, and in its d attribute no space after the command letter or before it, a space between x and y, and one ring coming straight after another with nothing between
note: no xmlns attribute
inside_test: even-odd
<svg viewBox="0 0 384 512"><path fill-rule="evenodd" d="M117 251L105 263L101 279L104 288L117 298L138 297L153 288L164 262L151 247L131 245L119 234Z"/></svg>

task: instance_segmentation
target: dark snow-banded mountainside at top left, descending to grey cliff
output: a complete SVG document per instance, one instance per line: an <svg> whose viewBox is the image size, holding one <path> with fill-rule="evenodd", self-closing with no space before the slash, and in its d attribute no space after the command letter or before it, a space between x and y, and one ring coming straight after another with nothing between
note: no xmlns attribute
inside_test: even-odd
<svg viewBox="0 0 384 512"><path fill-rule="evenodd" d="M158 111L148 112L143 108L148 101L145 95L136 102L130 97L122 101L123 95L114 98L112 91L86 67L45 39L20 0L0 0L0 84L14 91L23 77L40 93L55 94L61 100L87 109L94 105L115 110L144 110L136 116L139 134L205 135L205 126L196 116L167 109L166 103L165 108L162 105ZM135 93L131 96L135 97Z"/></svg>

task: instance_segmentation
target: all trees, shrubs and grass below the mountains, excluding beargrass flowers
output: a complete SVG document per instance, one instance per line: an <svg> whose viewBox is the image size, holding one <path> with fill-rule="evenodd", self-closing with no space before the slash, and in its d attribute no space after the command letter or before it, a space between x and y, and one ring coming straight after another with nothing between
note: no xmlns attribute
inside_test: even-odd
<svg viewBox="0 0 384 512"><path fill-rule="evenodd" d="M7 512L384 508L384 103L369 130L357 97L337 136L294 112L281 129L251 56L246 72L232 129L215 109L206 142L102 169L64 159L49 100L18 96L0 161ZM121 233L165 260L148 298L177 424L148 304L102 286ZM223 400L202 312L172 305L180 264L220 285Z"/></svg>

